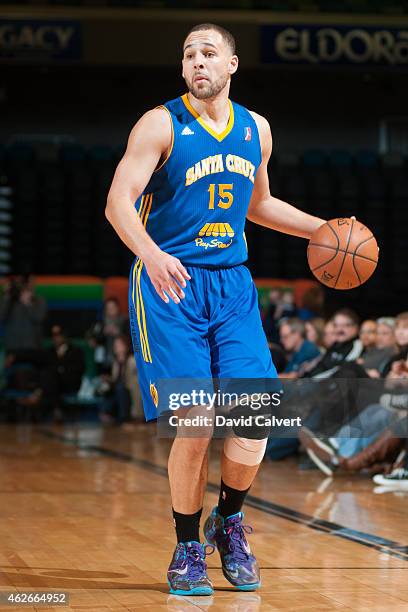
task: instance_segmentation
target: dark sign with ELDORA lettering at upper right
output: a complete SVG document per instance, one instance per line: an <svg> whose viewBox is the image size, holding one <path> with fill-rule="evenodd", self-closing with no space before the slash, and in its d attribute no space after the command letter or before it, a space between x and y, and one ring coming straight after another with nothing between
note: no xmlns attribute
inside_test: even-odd
<svg viewBox="0 0 408 612"><path fill-rule="evenodd" d="M408 28L264 25L261 26L261 61L408 66Z"/></svg>

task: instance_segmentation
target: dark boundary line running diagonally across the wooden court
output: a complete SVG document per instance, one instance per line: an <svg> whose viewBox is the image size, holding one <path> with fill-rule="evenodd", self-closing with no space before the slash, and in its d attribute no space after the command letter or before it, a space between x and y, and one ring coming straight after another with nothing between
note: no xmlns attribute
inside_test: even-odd
<svg viewBox="0 0 408 612"><path fill-rule="evenodd" d="M118 461L133 463L145 470L149 470L155 474L164 476L165 478L168 477L167 468L157 465L156 463L152 463L151 461L147 461L146 459L140 459L128 453L105 448L103 446L82 443L78 440L68 438L51 430L41 429L38 430L38 432L45 437L59 440L64 444L71 444L77 448L96 452L102 456L117 459ZM216 485L213 482L208 482L207 490L211 491L212 493L219 493L219 485ZM355 544L372 548L391 557L408 561L408 546L404 546L399 542L395 542L394 540L388 540L387 538L376 536L371 533L365 533L364 531L358 531L357 529L351 529L350 527L345 527L344 525L340 525L338 523L325 521L324 519L319 519L314 516L304 514L303 512L299 512L293 508L288 508L287 506L269 502L266 499L261 499L260 497L256 497L251 494L246 496L245 504L271 516L277 516L279 518L291 521L292 523L297 523L299 525L303 525L304 527L308 527L309 529L313 529L314 531L319 531L343 540L348 540L349 542L354 542Z"/></svg>

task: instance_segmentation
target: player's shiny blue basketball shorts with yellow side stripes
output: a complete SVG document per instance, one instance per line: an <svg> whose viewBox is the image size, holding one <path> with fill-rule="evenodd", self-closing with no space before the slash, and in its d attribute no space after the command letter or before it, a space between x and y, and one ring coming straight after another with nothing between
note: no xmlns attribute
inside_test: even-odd
<svg viewBox="0 0 408 612"><path fill-rule="evenodd" d="M169 409L158 393L161 379L277 378L248 268L185 267L191 280L179 304L159 297L139 258L130 271L130 328L147 421Z"/></svg>

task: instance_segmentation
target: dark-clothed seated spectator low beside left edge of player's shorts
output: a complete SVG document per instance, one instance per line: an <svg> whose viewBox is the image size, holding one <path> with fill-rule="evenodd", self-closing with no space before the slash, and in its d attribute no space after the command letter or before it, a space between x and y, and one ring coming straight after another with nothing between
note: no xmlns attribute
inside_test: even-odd
<svg viewBox="0 0 408 612"><path fill-rule="evenodd" d="M101 419L105 423L112 420L117 425L130 422L130 381L129 361L133 361L130 349L130 341L127 336L117 336L113 341L114 360L109 376L104 376L105 382L110 385L109 393L106 394Z"/></svg>

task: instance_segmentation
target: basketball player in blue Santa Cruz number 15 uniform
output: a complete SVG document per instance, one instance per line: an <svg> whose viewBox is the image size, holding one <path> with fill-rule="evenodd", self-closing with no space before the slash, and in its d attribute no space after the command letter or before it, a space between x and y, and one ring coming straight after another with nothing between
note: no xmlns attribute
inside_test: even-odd
<svg viewBox="0 0 408 612"><path fill-rule="evenodd" d="M269 124L229 99L238 68L232 35L213 24L194 27L182 67L188 93L136 123L106 207L136 255L129 307L147 420L165 408L159 379L277 377L243 265L245 219L306 239L324 223L270 195ZM260 574L241 508L266 438L225 440L219 503L204 528L226 579L247 591L259 587ZM176 436L170 452L178 543L167 577L175 594L213 592L199 536L208 445L208 436Z"/></svg>

